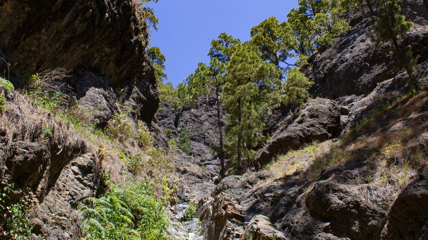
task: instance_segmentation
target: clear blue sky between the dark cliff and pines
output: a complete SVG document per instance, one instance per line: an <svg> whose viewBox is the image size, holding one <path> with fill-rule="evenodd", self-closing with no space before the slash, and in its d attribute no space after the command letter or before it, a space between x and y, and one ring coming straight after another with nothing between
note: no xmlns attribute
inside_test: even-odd
<svg viewBox="0 0 428 240"><path fill-rule="evenodd" d="M226 32L241 41L250 39L251 27L274 16L287 20L297 0L159 0L147 3L159 18L152 45L166 57L165 73L174 86L197 67L208 63L212 39Z"/></svg>

